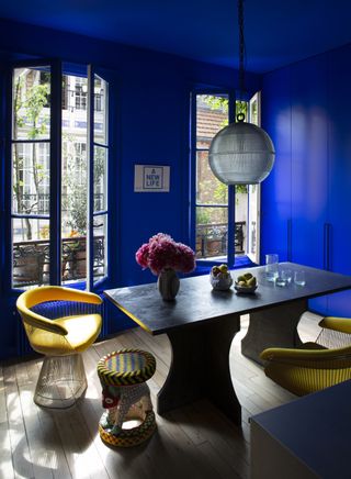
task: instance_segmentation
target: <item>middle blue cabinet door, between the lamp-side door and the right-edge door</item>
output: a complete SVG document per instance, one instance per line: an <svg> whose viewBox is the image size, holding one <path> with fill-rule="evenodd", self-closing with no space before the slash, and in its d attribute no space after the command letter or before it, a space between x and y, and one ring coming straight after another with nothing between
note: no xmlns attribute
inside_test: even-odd
<svg viewBox="0 0 351 479"><path fill-rule="evenodd" d="M292 260L326 268L328 224L327 59L291 66L292 75ZM309 302L326 313L327 297Z"/></svg>

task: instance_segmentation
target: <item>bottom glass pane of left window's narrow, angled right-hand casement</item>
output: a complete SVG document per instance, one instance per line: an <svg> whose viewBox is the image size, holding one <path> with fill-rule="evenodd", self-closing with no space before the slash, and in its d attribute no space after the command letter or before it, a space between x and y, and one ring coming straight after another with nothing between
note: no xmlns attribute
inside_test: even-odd
<svg viewBox="0 0 351 479"><path fill-rule="evenodd" d="M93 224L93 278L94 282L107 275L107 216L94 216Z"/></svg>

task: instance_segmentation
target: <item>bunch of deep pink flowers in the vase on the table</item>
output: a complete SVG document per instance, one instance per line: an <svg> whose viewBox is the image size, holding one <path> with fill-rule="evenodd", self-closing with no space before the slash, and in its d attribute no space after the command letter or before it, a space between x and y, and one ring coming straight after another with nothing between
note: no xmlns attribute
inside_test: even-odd
<svg viewBox="0 0 351 479"><path fill-rule="evenodd" d="M135 259L141 268L150 268L156 276L169 268L181 272L195 269L195 253L183 243L176 243L165 233L151 236L136 252Z"/></svg>

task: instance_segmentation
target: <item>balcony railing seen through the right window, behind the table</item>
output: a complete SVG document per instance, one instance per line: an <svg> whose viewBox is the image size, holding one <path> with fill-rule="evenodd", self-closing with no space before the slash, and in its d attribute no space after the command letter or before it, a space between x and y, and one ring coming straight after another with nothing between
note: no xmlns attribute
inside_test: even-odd
<svg viewBox="0 0 351 479"><path fill-rule="evenodd" d="M235 223L235 253L245 253L246 222ZM196 257L212 258L227 255L228 224L197 224L196 225Z"/></svg>

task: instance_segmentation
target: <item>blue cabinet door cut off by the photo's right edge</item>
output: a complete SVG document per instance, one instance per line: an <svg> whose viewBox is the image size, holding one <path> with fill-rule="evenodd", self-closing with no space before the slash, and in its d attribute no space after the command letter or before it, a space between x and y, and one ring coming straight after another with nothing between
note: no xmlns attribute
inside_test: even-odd
<svg viewBox="0 0 351 479"><path fill-rule="evenodd" d="M329 54L330 267L351 275L351 46ZM329 314L351 316L351 292L330 294Z"/></svg>

